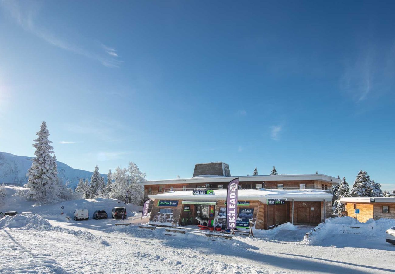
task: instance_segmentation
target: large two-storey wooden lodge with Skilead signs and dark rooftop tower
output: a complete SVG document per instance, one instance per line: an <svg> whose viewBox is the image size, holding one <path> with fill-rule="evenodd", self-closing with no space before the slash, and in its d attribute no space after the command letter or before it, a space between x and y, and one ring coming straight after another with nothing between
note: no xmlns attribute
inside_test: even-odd
<svg viewBox="0 0 395 274"><path fill-rule="evenodd" d="M258 229L325 221L332 213L332 186L340 183L322 174L236 177L224 162L197 164L189 179L139 183L145 198L153 200L149 223L198 225L200 219L209 225L225 224L226 191L235 178L239 178L238 218L250 219Z"/></svg>

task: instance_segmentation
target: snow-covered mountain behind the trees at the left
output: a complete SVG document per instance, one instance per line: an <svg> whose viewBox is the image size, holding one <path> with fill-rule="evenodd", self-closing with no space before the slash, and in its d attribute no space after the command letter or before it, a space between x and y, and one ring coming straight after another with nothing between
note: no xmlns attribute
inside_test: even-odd
<svg viewBox="0 0 395 274"><path fill-rule="evenodd" d="M6 183L6 185L24 185L27 183L26 173L32 165L30 160L32 157L17 156L7 152L0 152L0 183ZM56 162L58 164L58 177L62 179L63 183L67 182L67 185L71 188L75 188L80 178L88 179L92 177L90 171L81 169L74 169L62 162ZM104 181L107 182L107 175L101 174L104 177Z"/></svg>

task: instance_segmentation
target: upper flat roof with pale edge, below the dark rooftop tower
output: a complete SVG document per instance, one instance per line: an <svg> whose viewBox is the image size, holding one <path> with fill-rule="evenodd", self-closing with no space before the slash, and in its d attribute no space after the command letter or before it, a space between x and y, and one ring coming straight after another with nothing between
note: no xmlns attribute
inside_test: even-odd
<svg viewBox="0 0 395 274"><path fill-rule="evenodd" d="M187 179L167 179L139 182L138 185L173 185L173 184L193 184L193 183L222 183L230 182L239 178L239 182L255 182L255 181L305 181L317 180L330 182L332 185L339 185L340 179L324 174L281 174L281 175L256 175L256 176L218 176L218 175L200 175L198 177Z"/></svg>

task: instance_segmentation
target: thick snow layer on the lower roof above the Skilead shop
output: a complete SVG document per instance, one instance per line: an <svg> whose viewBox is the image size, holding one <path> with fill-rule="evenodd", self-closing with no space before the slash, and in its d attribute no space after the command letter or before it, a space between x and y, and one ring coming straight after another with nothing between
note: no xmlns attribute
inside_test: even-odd
<svg viewBox="0 0 395 274"><path fill-rule="evenodd" d="M175 191L156 195L148 195L152 200L170 199L170 200L226 200L226 189L216 189L214 194L193 195L192 190ZM332 200L333 195L321 190L271 190L271 189L239 189L239 200L260 200L266 202L266 199L286 199L288 201L323 201Z"/></svg>

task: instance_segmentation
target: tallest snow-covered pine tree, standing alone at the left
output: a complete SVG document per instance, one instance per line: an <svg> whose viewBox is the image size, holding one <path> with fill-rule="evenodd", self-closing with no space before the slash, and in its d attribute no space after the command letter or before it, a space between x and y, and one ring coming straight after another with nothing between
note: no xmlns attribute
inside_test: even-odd
<svg viewBox="0 0 395 274"><path fill-rule="evenodd" d="M25 187L30 188L26 193L26 197L29 200L45 204L53 202L56 183L53 158L51 156L53 147L51 146L52 142L48 140L49 131L45 122L41 124L40 131L36 135L38 138L34 140L36 143L33 144L33 147L36 148L36 152L34 152L36 157L32 158L32 166L26 173L28 182Z"/></svg>

